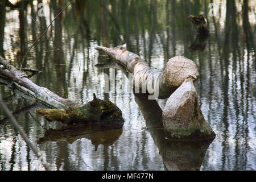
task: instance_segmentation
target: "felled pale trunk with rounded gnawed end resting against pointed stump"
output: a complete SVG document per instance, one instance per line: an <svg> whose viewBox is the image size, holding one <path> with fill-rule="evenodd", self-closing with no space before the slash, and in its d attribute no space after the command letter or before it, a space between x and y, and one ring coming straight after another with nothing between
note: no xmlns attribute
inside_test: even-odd
<svg viewBox="0 0 256 182"><path fill-rule="evenodd" d="M115 61L124 65L128 72L133 73L135 89L145 88L148 93L154 93L158 98L168 98L188 76L193 77L194 81L199 77L196 64L183 56L172 57L162 71L151 69L146 61L133 52L102 46L97 46L95 49L104 51Z"/></svg>

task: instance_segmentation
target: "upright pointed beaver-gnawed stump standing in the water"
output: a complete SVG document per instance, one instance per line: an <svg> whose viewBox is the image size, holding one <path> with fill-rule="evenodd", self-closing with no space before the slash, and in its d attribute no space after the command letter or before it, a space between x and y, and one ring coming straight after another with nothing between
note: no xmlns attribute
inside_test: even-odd
<svg viewBox="0 0 256 182"><path fill-rule="evenodd" d="M188 77L168 98L163 109L163 125L170 139L208 139L215 133L200 109L193 79Z"/></svg>

